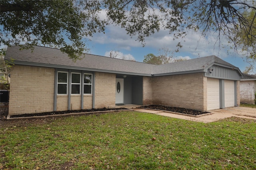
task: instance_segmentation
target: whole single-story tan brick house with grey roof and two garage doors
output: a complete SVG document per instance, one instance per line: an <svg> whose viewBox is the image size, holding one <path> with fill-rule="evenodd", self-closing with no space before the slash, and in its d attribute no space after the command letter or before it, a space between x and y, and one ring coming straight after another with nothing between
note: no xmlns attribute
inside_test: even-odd
<svg viewBox="0 0 256 170"><path fill-rule="evenodd" d="M240 104L236 66L208 56L153 65L84 54L73 62L59 49L8 47L14 59L9 115L116 105L164 105L207 111Z"/></svg>

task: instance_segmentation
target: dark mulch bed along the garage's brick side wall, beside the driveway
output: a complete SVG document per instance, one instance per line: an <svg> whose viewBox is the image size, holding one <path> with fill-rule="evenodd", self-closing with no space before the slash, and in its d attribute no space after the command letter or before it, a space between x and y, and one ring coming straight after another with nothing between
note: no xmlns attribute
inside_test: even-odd
<svg viewBox="0 0 256 170"><path fill-rule="evenodd" d="M198 110L193 110L193 109L185 109L185 108L180 108L180 107L168 107L168 106L160 106L160 105L142 106L140 108L172 111L172 112L176 112L176 113L183 113L183 114L195 115L195 116L202 115L205 113L210 113L207 111L198 111Z"/></svg>

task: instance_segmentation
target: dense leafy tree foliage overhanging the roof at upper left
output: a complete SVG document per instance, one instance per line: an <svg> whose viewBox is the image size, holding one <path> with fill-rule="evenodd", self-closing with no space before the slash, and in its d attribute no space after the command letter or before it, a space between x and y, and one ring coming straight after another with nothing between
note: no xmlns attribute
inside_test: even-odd
<svg viewBox="0 0 256 170"><path fill-rule="evenodd" d="M48 45L70 58L80 58L87 50L84 36L104 31L104 21L96 15L97 1L1 0L1 36L4 45ZM95 15L94 15L95 14Z"/></svg>

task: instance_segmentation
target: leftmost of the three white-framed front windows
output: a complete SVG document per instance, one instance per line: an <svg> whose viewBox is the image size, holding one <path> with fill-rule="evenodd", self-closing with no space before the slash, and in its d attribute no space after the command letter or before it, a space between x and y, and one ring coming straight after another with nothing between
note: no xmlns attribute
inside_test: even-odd
<svg viewBox="0 0 256 170"><path fill-rule="evenodd" d="M58 72L58 94L68 94L68 72Z"/></svg>

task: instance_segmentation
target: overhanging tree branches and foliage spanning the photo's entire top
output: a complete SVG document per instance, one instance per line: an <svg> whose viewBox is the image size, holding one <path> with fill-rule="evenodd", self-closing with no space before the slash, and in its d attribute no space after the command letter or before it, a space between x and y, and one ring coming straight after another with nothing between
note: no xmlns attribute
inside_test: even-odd
<svg viewBox="0 0 256 170"><path fill-rule="evenodd" d="M201 31L203 36L217 33L234 50L241 47L237 35L255 41L255 1L246 0L1 0L1 38L5 45L48 44L68 53L72 59L86 49L84 36L104 31L107 24L119 25L145 45L145 37L161 28L175 38L187 30ZM107 19L100 19L106 10ZM66 39L65 39L66 38ZM255 53L253 43L243 41ZM246 43L247 42L247 43ZM181 43L177 47L182 47ZM77 55L78 54L78 55ZM252 57L248 55L248 57Z"/></svg>

